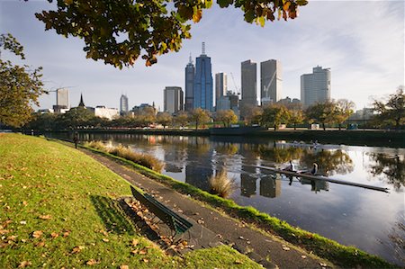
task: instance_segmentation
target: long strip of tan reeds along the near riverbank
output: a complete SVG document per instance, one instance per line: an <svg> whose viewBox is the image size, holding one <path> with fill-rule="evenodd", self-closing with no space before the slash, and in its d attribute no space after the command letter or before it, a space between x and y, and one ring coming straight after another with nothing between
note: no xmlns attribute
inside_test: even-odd
<svg viewBox="0 0 405 269"><path fill-rule="evenodd" d="M127 160L139 164L140 166L148 167L156 172L161 172L165 164L153 157L150 154L139 153L132 150L130 147L124 147L122 145L112 146L105 145L102 141L89 141L85 142L85 147L96 148L106 153L111 153L112 155L123 157Z"/></svg>

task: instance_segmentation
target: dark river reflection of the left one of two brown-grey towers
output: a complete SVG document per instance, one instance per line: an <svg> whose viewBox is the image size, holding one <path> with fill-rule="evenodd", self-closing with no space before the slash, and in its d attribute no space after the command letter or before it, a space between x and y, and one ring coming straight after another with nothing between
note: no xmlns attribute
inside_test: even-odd
<svg viewBox="0 0 405 269"><path fill-rule="evenodd" d="M239 153L242 156L242 167L240 169L240 171L242 171L240 173L240 195L250 197L256 194L257 157L246 144L241 146Z"/></svg>

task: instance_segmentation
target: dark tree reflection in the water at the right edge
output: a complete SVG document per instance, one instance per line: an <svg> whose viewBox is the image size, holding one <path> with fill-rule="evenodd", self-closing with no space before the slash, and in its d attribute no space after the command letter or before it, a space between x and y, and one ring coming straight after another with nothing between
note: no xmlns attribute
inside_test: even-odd
<svg viewBox="0 0 405 269"><path fill-rule="evenodd" d="M370 153L374 161L369 172L373 176L379 176L388 184L392 184L396 191L405 186L405 159L404 156L386 156L383 153Z"/></svg>

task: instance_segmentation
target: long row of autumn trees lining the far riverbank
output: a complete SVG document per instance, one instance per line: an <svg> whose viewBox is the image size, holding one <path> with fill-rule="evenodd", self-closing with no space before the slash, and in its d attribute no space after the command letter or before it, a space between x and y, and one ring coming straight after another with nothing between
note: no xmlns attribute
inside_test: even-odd
<svg viewBox="0 0 405 269"><path fill-rule="evenodd" d="M132 115L122 116L112 121L95 117L93 112L83 107L71 109L63 114L35 113L33 120L24 126L30 130L71 130L71 129L117 129L117 128L182 128L195 130L206 127L229 127L232 123L241 125L260 125L278 130L282 124L296 129L308 127L311 123L320 123L323 130L326 127L338 127L339 130L347 124L347 119L354 112L354 103L346 99L316 103L306 110L300 104L271 104L265 107L248 109L245 121L239 121L231 110L210 113L197 108L192 112L178 112L174 116L167 112L144 110ZM365 126L366 122L366 126ZM363 128L402 129L405 122L405 94L400 87L391 94L387 102L374 101L374 116L368 121L360 121Z"/></svg>

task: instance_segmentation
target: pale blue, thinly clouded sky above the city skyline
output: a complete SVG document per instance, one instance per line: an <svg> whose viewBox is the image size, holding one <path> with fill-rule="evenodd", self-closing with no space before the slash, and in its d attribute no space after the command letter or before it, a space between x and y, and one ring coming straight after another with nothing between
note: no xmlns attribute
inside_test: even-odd
<svg viewBox="0 0 405 269"><path fill-rule="evenodd" d="M214 1L215 2L215 1ZM283 66L282 98L300 98L300 76L316 66L331 71L331 98L345 98L356 109L370 106L373 98L386 98L404 85L404 1L309 1L299 17L288 22L266 22L265 27L243 21L233 7L213 4L192 22L192 39L179 52L157 58L146 67L138 59L134 67L106 66L85 58L84 41L60 36L34 13L52 9L48 1L0 0L0 32L10 32L25 49L25 63L43 67L47 89L68 87L70 105L119 108L121 94L130 108L155 102L163 109L166 86L184 89L184 67L189 55L201 54L202 41L211 57L212 76L228 74L228 89L240 88L240 63L257 62L257 97L260 97L260 62L275 58ZM7 52L2 58L20 63ZM230 73L235 78L233 82ZM40 108L51 108L55 93L40 97Z"/></svg>

